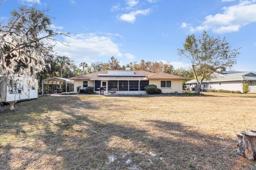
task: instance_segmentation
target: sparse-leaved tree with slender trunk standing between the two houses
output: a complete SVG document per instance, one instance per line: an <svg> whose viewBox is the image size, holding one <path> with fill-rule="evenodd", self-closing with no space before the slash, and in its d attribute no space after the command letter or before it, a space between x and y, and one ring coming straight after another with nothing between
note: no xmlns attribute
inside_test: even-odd
<svg viewBox="0 0 256 170"><path fill-rule="evenodd" d="M184 49L177 49L181 58L189 59L197 82L195 92L200 92L203 80L209 80L216 68L232 67L240 54L240 48L232 49L226 38L214 38L206 31L198 38L192 34L186 37Z"/></svg>

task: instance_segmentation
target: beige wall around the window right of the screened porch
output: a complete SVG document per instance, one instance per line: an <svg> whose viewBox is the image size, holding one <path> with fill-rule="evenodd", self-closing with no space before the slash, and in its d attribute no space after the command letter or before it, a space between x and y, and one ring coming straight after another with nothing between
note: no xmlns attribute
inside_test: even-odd
<svg viewBox="0 0 256 170"><path fill-rule="evenodd" d="M182 80L171 80L171 88L161 88L161 80L165 79L151 79L149 80L149 84L154 84L157 88L160 88L163 93L182 93ZM170 80L166 80L170 81Z"/></svg>

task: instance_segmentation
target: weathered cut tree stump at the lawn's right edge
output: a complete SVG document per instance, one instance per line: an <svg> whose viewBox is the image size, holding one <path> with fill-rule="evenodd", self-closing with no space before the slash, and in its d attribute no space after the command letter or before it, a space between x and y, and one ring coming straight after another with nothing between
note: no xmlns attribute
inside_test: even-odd
<svg viewBox="0 0 256 170"><path fill-rule="evenodd" d="M238 137L237 152L240 155L244 155L248 160L256 159L256 131L242 131L242 133L236 133Z"/></svg>

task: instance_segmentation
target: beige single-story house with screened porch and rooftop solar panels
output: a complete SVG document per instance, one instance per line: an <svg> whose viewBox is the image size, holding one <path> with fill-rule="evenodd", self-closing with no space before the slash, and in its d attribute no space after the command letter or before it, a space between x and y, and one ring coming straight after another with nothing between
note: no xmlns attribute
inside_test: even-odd
<svg viewBox="0 0 256 170"><path fill-rule="evenodd" d="M116 94L146 94L144 87L149 84L155 84L163 93L182 93L182 80L186 78L163 72L103 70L70 79L74 80L74 93L77 93L79 86L80 93L85 93L85 88L92 86L97 94L100 94L100 87L104 87L104 94L112 88L117 88Z"/></svg>

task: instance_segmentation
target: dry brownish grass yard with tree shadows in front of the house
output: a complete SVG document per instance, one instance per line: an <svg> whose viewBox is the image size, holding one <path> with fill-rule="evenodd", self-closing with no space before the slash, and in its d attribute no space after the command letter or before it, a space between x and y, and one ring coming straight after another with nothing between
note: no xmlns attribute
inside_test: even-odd
<svg viewBox="0 0 256 170"><path fill-rule="evenodd" d="M0 112L0 169L255 170L256 94L44 96Z"/></svg>

